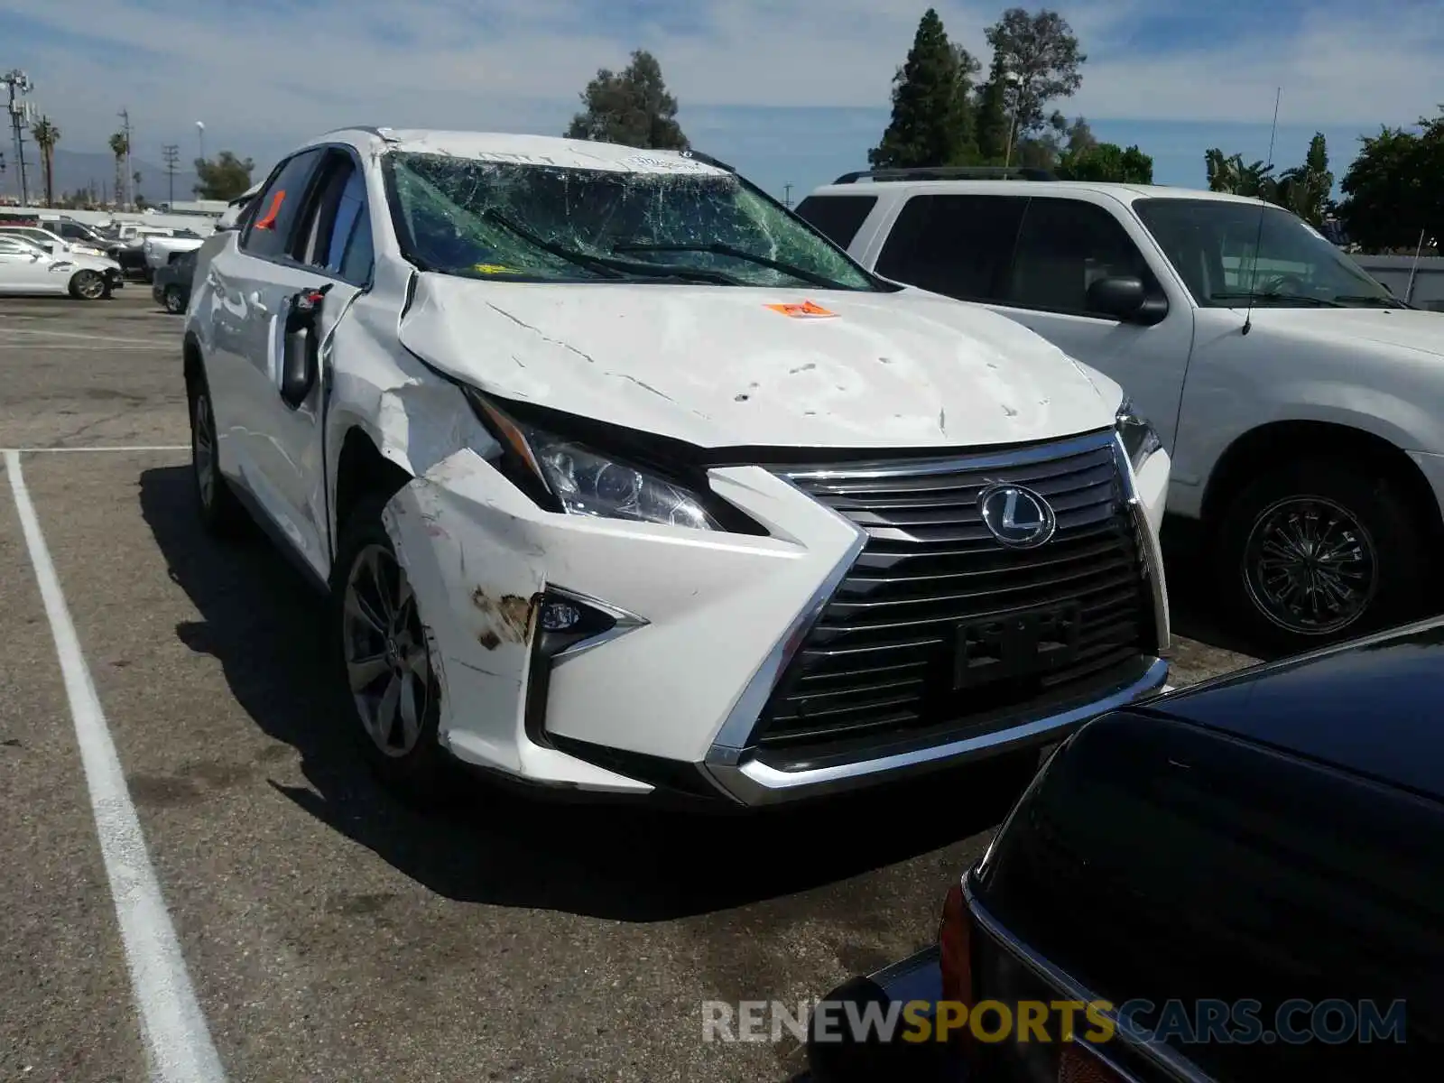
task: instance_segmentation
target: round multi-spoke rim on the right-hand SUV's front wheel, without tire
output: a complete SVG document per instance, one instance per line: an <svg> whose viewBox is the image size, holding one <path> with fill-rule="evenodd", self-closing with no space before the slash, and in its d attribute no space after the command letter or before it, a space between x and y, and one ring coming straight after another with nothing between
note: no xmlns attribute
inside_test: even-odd
<svg viewBox="0 0 1444 1083"><path fill-rule="evenodd" d="M1331 635L1363 617L1379 586L1373 537L1323 497L1287 497L1259 513L1243 582L1264 617L1297 635Z"/></svg>

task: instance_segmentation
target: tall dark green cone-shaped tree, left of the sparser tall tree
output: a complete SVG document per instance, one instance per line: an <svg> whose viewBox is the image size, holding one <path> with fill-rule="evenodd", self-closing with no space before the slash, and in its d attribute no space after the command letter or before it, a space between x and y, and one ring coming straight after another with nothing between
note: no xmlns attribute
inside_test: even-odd
<svg viewBox="0 0 1444 1083"><path fill-rule="evenodd" d="M966 53L963 53L966 55ZM966 87L959 55L931 7L923 14L907 62L892 77L892 120L868 152L875 169L911 169L957 162L966 139Z"/></svg>

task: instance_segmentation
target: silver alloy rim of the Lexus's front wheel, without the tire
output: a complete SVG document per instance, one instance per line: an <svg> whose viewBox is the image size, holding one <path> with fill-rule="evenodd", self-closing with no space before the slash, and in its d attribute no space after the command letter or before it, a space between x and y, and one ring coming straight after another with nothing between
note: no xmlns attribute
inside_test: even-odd
<svg viewBox="0 0 1444 1083"><path fill-rule="evenodd" d="M368 544L351 563L342 653L361 725L388 757L416 748L433 706L430 657L416 595L396 554Z"/></svg>

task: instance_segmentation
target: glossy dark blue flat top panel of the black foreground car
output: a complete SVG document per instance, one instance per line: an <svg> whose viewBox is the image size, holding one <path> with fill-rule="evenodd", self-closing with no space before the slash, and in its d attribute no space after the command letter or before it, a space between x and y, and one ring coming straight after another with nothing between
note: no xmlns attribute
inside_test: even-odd
<svg viewBox="0 0 1444 1083"><path fill-rule="evenodd" d="M1444 800L1444 618L1203 682L1147 710Z"/></svg>

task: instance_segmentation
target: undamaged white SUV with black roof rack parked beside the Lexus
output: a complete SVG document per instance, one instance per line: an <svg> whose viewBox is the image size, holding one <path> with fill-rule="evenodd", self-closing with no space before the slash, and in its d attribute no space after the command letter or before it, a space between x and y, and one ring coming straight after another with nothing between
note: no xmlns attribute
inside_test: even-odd
<svg viewBox="0 0 1444 1083"><path fill-rule="evenodd" d="M848 175L797 211L865 267L1119 381L1253 641L1297 651L1421 615L1444 544L1438 313L1256 199L973 173Z"/></svg>

